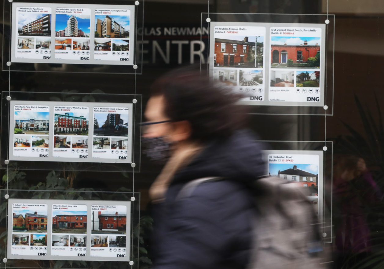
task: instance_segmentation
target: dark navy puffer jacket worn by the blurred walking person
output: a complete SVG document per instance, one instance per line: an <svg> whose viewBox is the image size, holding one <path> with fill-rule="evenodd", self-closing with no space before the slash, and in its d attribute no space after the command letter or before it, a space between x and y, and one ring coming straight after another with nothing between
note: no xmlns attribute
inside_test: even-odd
<svg viewBox="0 0 384 269"><path fill-rule="evenodd" d="M213 141L177 172L166 200L154 212L155 269L244 268L250 256L255 209L252 182L265 172L260 143L247 131ZM177 199L190 180L225 177L198 185Z"/></svg>

